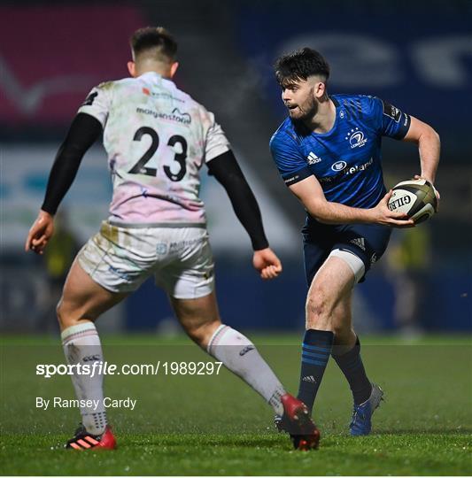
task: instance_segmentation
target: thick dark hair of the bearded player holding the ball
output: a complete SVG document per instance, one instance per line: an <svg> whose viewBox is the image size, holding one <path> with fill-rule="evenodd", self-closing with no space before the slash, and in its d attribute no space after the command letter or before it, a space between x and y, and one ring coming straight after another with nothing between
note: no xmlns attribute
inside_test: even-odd
<svg viewBox="0 0 472 478"><path fill-rule="evenodd" d="M316 50L302 48L275 61L275 78L281 86L295 81L306 80L309 76L319 75L326 83L329 78L328 62Z"/></svg>

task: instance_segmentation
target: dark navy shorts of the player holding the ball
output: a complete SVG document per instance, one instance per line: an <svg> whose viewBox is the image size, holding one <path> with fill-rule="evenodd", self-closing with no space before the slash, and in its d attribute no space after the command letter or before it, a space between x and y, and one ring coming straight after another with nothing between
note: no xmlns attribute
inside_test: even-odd
<svg viewBox="0 0 472 478"><path fill-rule="evenodd" d="M308 218L302 229L303 250L305 258L305 274L308 286L314 274L335 249L350 251L362 260L366 271L382 257L391 236L391 227L380 224L321 224Z"/></svg>

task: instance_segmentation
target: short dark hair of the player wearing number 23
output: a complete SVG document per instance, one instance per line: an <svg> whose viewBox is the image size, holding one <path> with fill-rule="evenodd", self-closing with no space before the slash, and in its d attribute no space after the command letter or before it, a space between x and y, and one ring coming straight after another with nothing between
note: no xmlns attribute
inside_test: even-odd
<svg viewBox="0 0 472 478"><path fill-rule="evenodd" d="M177 42L164 27L145 27L136 30L130 39L135 58L148 54L165 62L175 60Z"/></svg>

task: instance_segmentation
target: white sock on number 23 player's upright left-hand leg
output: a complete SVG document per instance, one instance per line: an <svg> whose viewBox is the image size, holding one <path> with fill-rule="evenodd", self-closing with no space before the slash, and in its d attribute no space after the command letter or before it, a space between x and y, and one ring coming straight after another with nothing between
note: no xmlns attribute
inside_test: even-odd
<svg viewBox="0 0 472 478"><path fill-rule="evenodd" d="M103 361L102 345L97 328L92 322L66 328L62 334L62 345L70 365L81 364L93 366L94 362ZM72 375L75 396L78 400L92 400L94 405L81 407L82 424L92 435L101 435L106 427L104 410L104 377L102 374ZM97 405L97 407L96 407Z"/></svg>

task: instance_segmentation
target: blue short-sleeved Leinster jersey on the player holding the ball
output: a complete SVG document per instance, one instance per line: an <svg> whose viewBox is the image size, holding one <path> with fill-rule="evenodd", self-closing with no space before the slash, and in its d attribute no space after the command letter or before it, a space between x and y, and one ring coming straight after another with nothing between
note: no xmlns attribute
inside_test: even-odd
<svg viewBox="0 0 472 478"><path fill-rule="evenodd" d="M385 194L382 136L402 139L410 117L375 96L334 95L336 120L328 133L313 133L287 118L270 140L270 150L285 183L312 174L326 199L369 208Z"/></svg>

